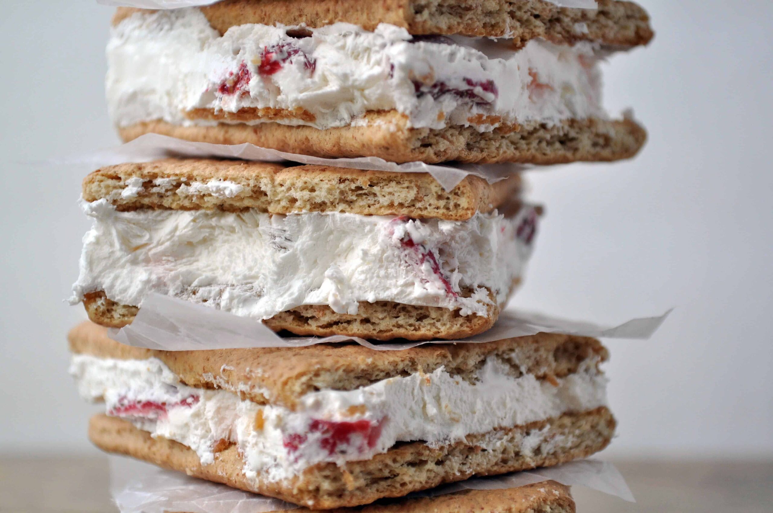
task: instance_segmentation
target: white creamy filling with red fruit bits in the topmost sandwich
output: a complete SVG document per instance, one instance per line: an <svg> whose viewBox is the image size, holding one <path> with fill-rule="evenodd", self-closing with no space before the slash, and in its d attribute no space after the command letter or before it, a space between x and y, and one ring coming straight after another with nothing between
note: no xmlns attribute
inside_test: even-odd
<svg viewBox="0 0 773 513"><path fill-rule="evenodd" d="M463 37L417 39L381 24L375 32L336 23L288 36L271 25L238 25L223 35L195 8L137 13L111 32L107 101L121 126L189 119L195 109L305 112L265 118L318 128L363 124L368 111L397 110L412 127L606 117L594 46ZM311 116L308 116L311 114ZM223 121L229 122L229 121ZM235 121L234 121L235 122Z"/></svg>

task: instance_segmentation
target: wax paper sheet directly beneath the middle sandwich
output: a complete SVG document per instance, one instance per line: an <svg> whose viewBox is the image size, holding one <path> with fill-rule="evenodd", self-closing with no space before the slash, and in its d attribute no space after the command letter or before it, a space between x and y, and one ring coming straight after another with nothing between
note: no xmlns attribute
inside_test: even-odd
<svg viewBox="0 0 773 513"><path fill-rule="evenodd" d="M303 347L323 342L356 341L380 351L413 348L422 344L449 342L489 342L502 338L535 335L540 331L597 338L649 338L666 319L665 314L635 318L614 326L594 322L572 321L528 311L503 311L493 328L481 335L458 341L384 342L373 344L363 338L335 335L332 337L280 337L263 323L243 318L200 304L182 301L162 294L149 294L135 320L120 330L111 328L108 335L123 344L165 351L226 348Z"/></svg>

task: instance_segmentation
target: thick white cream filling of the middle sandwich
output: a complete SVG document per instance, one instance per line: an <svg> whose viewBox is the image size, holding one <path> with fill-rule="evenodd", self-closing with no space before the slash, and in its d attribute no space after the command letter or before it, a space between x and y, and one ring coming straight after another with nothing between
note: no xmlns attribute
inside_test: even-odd
<svg viewBox="0 0 773 513"><path fill-rule="evenodd" d="M194 185L189 189L235 190ZM113 301L141 307L156 292L257 320L305 304L356 314L359 301L485 316L521 276L537 219L529 206L512 218L478 213L444 221L81 204L93 225L83 236L73 304L104 290Z"/></svg>

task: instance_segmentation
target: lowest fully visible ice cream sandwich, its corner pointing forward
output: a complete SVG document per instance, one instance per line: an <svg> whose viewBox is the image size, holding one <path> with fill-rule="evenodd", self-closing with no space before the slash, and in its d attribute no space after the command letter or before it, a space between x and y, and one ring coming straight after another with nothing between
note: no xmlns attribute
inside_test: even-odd
<svg viewBox="0 0 773 513"><path fill-rule="evenodd" d="M97 447L312 509L587 457L615 420L593 338L164 352L70 331Z"/></svg>

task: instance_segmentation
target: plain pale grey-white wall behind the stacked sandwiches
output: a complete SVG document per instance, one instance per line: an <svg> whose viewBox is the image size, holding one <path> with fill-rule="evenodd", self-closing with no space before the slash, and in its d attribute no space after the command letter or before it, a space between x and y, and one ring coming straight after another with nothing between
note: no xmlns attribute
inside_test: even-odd
<svg viewBox="0 0 773 513"><path fill-rule="evenodd" d="M611 110L635 107L635 161L533 173L547 206L516 304L594 321L673 316L609 341L609 454L773 456L770 0L642 0L658 35L607 66ZM0 16L0 452L94 451L93 406L66 373L63 299L88 227L90 168L44 159L117 142L104 107L112 9L4 0Z"/></svg>

